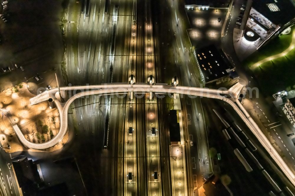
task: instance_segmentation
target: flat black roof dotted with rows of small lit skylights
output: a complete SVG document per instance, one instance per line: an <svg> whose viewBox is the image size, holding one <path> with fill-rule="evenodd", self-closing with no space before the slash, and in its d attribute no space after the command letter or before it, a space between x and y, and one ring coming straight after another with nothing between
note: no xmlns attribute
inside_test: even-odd
<svg viewBox="0 0 295 196"><path fill-rule="evenodd" d="M211 82L228 75L232 66L214 45L196 49L196 55L205 82Z"/></svg>

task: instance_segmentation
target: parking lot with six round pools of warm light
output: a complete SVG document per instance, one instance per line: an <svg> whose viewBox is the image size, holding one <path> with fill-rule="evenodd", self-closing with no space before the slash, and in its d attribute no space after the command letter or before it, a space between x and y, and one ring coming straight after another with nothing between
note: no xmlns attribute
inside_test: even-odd
<svg viewBox="0 0 295 196"><path fill-rule="evenodd" d="M187 9L187 15L191 24L188 30L191 43L196 48L202 48L210 44L220 45L221 29L225 19L226 10Z"/></svg>

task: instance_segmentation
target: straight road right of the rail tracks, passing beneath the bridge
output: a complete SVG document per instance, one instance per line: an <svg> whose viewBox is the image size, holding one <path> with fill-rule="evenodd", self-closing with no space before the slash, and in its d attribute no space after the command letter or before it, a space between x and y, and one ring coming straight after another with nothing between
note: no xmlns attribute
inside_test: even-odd
<svg viewBox="0 0 295 196"><path fill-rule="evenodd" d="M167 6L166 5L170 5ZM199 87L201 84L198 80L198 72L196 71L196 63L191 60L190 46L187 45L188 35L186 33L185 21L186 13L180 8L182 4L179 1L167 0L167 4L163 4L162 9L165 11L165 16L170 16L169 31L170 36L174 36L171 43L173 52L173 61L178 68L178 72L175 75L179 78L180 85ZM183 11L182 11L183 10ZM167 14L168 13L168 14ZM164 32L160 32L160 34ZM165 32L166 33L166 32ZM187 38L187 40L185 39ZM166 41L166 40L165 40ZM161 42L165 42L161 41ZM162 49L164 50L164 49ZM170 51L169 51L170 52ZM174 64L173 62L173 64ZM170 67L170 65L168 65ZM167 72L164 68L163 74ZM165 78L165 81L168 80ZM188 104L189 103L189 104ZM204 114L202 110L201 101L199 98L190 99L185 97L182 99L182 112L183 118L190 118L191 124L184 124L184 138L186 139L186 151L187 151L187 167L188 167L188 187L190 194L193 194L193 188L202 186L203 177L208 177L212 172L211 161L208 159L208 143L207 143L207 131L206 124L204 122ZM190 146L190 135L193 136L194 146ZM199 164L201 160L202 164ZM182 190L184 192L185 189Z"/></svg>

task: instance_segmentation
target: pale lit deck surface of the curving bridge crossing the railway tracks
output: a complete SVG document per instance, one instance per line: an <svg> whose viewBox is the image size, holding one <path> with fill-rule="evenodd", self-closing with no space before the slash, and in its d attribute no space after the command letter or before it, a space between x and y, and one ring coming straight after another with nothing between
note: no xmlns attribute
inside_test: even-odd
<svg viewBox="0 0 295 196"><path fill-rule="evenodd" d="M232 89L238 91L237 86L240 85L235 85L232 87ZM117 87L117 89L115 89ZM69 89L83 89L82 86L80 87L61 87L61 90L69 90ZM228 102L240 115L240 117L244 120L244 122L247 124L247 126L250 128L250 130L255 134L255 136L258 138L258 140L263 144L263 146L266 149L271 149L268 150L269 153L272 155L274 160L277 162L279 167L285 172L285 174L289 177L291 182L294 181L294 174L289 170L289 168L286 166L286 164L283 162L281 157L278 155L278 153L274 150L274 148L271 146L271 144L268 142L267 138L264 136L264 134L261 132L257 124L254 122L254 120L250 117L248 112L245 110L245 108L242 106L242 104L239 101L235 101L235 103L230 100L230 99L224 99L223 96L220 94L235 94L236 96L238 95L237 93L232 93L232 89L227 90L227 91L221 91L221 90L214 90L214 89L204 89L204 88L196 88L196 87L171 87L171 86L165 86L165 85L126 85L126 84L113 84L113 85L96 85L96 86L86 86L85 89L98 89L98 90L93 90L93 91L88 91L88 92L81 92L70 99L66 102L64 107L62 107L58 102L56 102L57 107L59 108L60 114L61 114L61 130L60 134L58 134L55 138L50 140L49 142L42 143L42 144L32 144L31 142L27 141L22 134L20 134L20 130L17 127L16 124L12 124L14 127L14 130L16 131L18 137L20 140L24 143L24 145L28 145L29 147L34 147L34 148L40 148L40 147L48 147L50 145L55 144L55 142L60 141L60 139L63 137L63 135L66 132L67 129L67 113L64 111L67 111L69 104L73 102L74 99L78 97L82 97L85 95L90 95L90 94L99 94L99 93L114 93L114 92L134 92L140 89L140 91L144 92L170 92L170 93L179 93L179 94L190 94L190 95L197 95L197 96L202 96L202 97L211 97L211 98L216 98L216 99L221 99L226 102ZM136 90L137 89L137 90ZM49 93L50 92L50 93ZM42 93L36 97L33 97L30 99L31 104L36 104L38 102L41 102L42 100L47 100L49 97L49 94L55 94L54 92L57 92L57 89L51 89L50 91L47 91L45 93ZM40 146L40 147L39 147Z"/></svg>

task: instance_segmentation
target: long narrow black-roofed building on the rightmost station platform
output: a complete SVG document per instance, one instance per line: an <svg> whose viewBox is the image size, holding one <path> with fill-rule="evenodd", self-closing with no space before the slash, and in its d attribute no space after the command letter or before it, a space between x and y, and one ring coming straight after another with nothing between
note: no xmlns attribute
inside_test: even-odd
<svg viewBox="0 0 295 196"><path fill-rule="evenodd" d="M174 109L169 112L169 132L171 145L178 145L181 142L180 126L177 121L177 111Z"/></svg>

